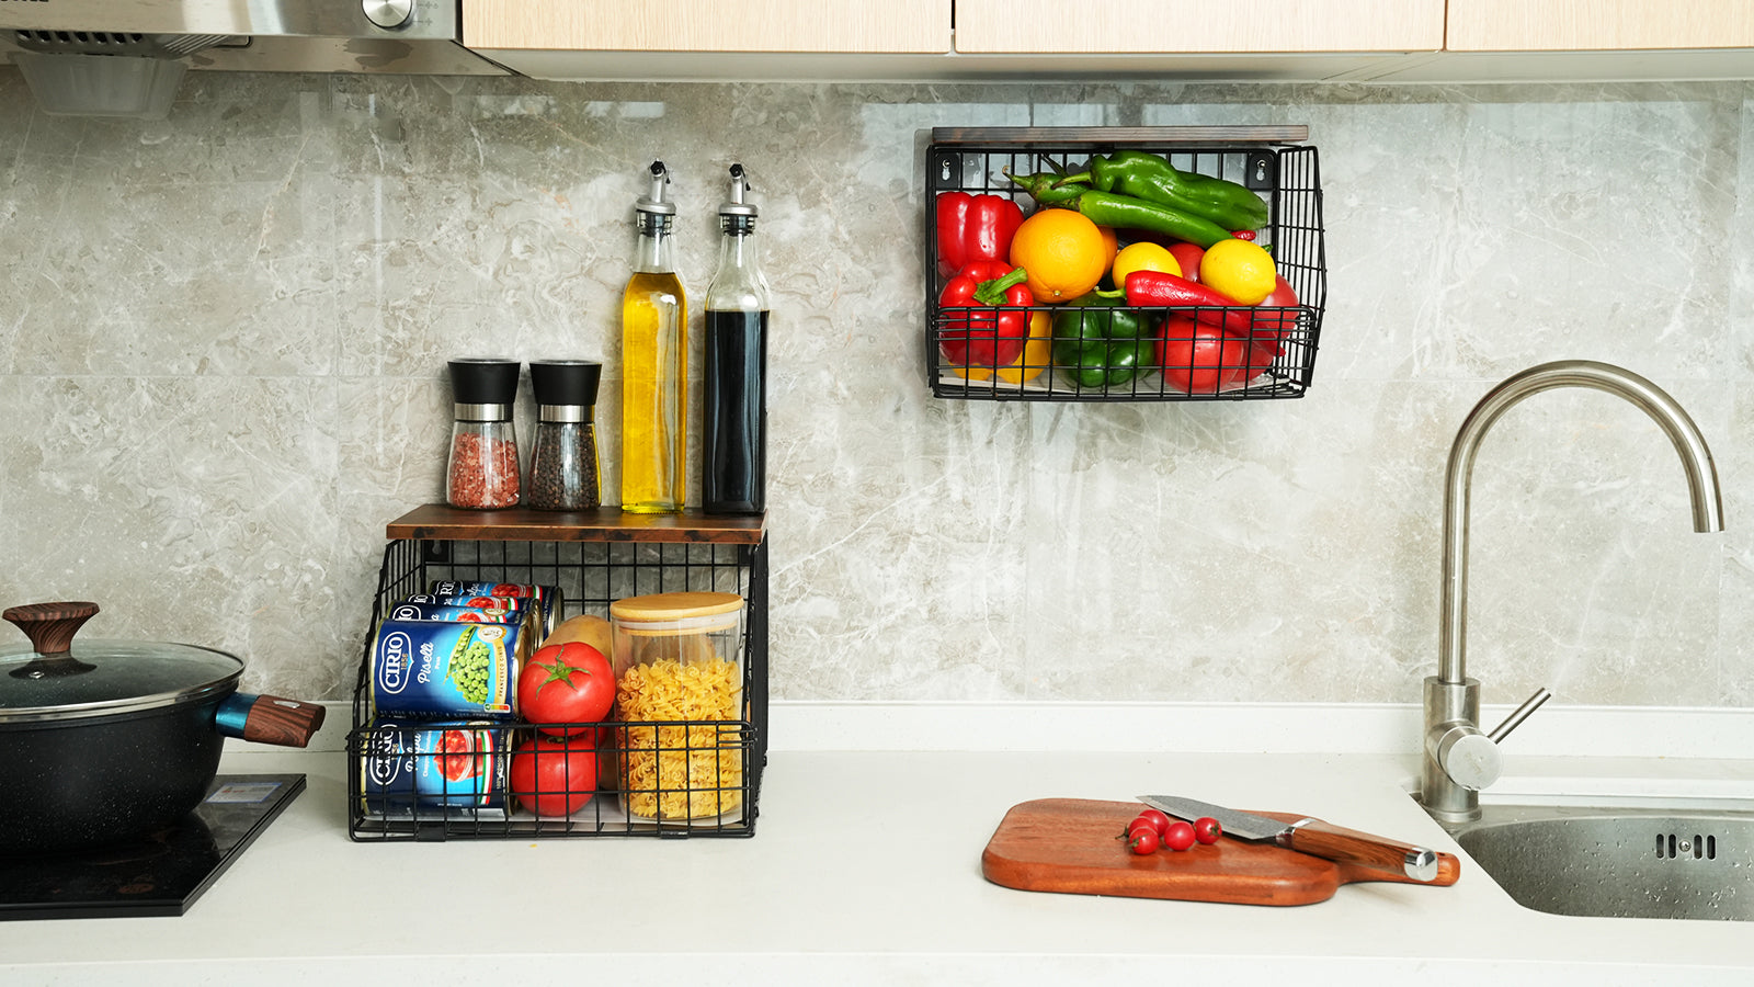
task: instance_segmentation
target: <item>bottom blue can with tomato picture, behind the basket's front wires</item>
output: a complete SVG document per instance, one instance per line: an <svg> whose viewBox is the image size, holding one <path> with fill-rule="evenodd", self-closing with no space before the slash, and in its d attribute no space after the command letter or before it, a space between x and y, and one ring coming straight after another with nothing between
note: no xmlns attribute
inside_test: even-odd
<svg viewBox="0 0 1754 987"><path fill-rule="evenodd" d="M402 724L379 720L360 757L360 806L367 815L417 808L505 810L507 748L498 724Z"/></svg>

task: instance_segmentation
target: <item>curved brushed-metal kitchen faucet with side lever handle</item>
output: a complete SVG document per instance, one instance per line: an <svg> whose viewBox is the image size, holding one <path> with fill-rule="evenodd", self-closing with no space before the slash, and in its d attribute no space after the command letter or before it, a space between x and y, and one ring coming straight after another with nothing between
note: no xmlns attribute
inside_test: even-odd
<svg viewBox="0 0 1754 987"><path fill-rule="evenodd" d="M1498 418L1531 393L1586 386L1624 397L1649 414L1680 453L1693 495L1693 530L1724 530L1712 450L1675 399L1651 381L1593 360L1559 360L1515 374L1468 413L1449 450L1444 476L1444 609L1438 673L1424 680L1424 773L1419 801L1438 822L1480 818L1480 789L1498 780L1498 741L1552 694L1540 688L1491 734L1480 732L1480 683L1466 673L1468 485L1480 439Z"/></svg>

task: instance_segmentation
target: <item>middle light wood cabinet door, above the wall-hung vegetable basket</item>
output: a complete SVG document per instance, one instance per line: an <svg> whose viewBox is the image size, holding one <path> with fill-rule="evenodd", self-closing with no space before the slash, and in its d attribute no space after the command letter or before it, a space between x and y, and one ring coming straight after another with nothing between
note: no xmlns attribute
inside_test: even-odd
<svg viewBox="0 0 1754 987"><path fill-rule="evenodd" d="M1444 0L956 0L956 51L1251 54L1437 51Z"/></svg>

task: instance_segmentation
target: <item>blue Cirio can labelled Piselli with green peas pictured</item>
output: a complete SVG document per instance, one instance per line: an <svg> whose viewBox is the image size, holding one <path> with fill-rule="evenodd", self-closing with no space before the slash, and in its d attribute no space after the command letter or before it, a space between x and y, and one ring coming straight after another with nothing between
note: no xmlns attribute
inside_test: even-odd
<svg viewBox="0 0 1754 987"><path fill-rule="evenodd" d="M516 623L384 620L372 639L372 710L510 720L530 638Z"/></svg>

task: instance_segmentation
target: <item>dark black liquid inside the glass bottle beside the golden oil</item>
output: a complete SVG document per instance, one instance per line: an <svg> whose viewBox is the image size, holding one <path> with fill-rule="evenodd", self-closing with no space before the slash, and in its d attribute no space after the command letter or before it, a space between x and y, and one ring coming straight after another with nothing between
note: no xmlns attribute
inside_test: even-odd
<svg viewBox="0 0 1754 987"><path fill-rule="evenodd" d="M766 509L766 311L707 309L703 511Z"/></svg>

